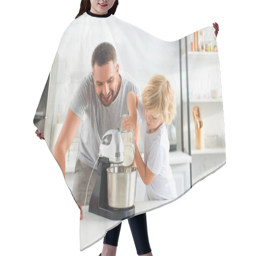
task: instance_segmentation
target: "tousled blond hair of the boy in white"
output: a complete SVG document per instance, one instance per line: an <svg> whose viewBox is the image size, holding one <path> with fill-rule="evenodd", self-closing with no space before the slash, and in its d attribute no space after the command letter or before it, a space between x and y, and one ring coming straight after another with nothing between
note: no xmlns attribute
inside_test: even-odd
<svg viewBox="0 0 256 256"><path fill-rule="evenodd" d="M176 115L176 100L170 82L163 75L150 78L142 92L142 103L154 117L170 124Z"/></svg>

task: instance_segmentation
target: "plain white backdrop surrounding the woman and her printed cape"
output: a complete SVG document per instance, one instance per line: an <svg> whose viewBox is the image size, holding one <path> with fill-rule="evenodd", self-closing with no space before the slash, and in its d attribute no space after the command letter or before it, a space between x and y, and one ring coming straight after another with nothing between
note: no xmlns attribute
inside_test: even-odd
<svg viewBox="0 0 256 256"><path fill-rule="evenodd" d="M119 1L116 16L168 41L212 25L227 164L147 213L153 255L255 255L255 29L251 1ZM136 6L135 6L136 3ZM80 0L1 2L1 255L99 255L79 247L79 209L33 117ZM123 222L117 255L136 255Z"/></svg>

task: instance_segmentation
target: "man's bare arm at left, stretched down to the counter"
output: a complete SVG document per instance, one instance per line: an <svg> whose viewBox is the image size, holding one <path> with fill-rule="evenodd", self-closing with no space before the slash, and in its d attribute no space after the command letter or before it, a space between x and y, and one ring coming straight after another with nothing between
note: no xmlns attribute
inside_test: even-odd
<svg viewBox="0 0 256 256"><path fill-rule="evenodd" d="M68 113L60 131L60 135L56 141L55 147L52 151L52 155L56 159L57 163L60 165L60 169L63 172L65 178L65 156L66 153L73 142L76 132L78 130L81 118L76 116L76 114L68 108Z"/></svg>

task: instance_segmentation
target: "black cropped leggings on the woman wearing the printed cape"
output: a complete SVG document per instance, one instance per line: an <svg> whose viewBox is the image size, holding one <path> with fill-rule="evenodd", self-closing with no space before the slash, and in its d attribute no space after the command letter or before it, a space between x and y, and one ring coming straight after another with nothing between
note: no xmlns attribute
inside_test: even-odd
<svg viewBox="0 0 256 256"><path fill-rule="evenodd" d="M128 219L128 222L132 231L132 237L137 250L137 254L141 255L151 252L148 241L146 213L134 216ZM117 246L121 224L122 223L107 232L106 236L104 237L103 244Z"/></svg>

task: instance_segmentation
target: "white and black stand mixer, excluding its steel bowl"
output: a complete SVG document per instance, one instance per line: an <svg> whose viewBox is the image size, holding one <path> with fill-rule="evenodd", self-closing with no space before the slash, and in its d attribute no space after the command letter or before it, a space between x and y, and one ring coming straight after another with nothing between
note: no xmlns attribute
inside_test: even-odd
<svg viewBox="0 0 256 256"><path fill-rule="evenodd" d="M108 202L108 175L107 168L110 164L122 164L124 162L124 143L120 132L109 130L100 142L98 176L92 191L89 203L89 212L95 213L110 220L123 220L135 215L134 204L131 207L115 208L110 207ZM115 166L114 166L115 167ZM135 167L128 167L135 168ZM135 187L137 178L137 168ZM116 192L117 193L117 192ZM135 188L134 188L135 195ZM134 202L134 199L133 199Z"/></svg>

